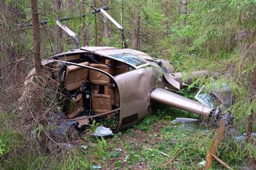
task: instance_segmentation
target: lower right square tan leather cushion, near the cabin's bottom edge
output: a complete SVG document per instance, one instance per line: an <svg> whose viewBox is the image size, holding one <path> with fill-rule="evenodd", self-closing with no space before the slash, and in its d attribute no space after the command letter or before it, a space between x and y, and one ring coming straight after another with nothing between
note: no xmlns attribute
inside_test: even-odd
<svg viewBox="0 0 256 170"><path fill-rule="evenodd" d="M110 95L92 94L91 103L95 113L105 113L112 110Z"/></svg>

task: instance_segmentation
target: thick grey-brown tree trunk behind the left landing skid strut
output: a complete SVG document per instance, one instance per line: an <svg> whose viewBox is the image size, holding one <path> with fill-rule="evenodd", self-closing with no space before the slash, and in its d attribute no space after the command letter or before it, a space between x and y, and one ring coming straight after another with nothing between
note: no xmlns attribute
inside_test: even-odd
<svg viewBox="0 0 256 170"><path fill-rule="evenodd" d="M61 8L61 0L53 0L53 8L54 8L54 12L58 12L59 9ZM63 52L63 47L62 47L63 31L58 25L54 26L54 31L55 31L54 54L59 54Z"/></svg>

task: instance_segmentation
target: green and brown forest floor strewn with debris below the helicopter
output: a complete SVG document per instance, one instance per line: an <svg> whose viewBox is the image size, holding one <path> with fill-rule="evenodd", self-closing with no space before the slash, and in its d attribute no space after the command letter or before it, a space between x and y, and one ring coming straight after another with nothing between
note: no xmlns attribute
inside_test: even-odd
<svg viewBox="0 0 256 170"><path fill-rule="evenodd" d="M216 129L200 124L171 124L176 117L200 118L171 107L158 110L133 128L105 138L108 156L103 160L95 159L94 164L106 170L204 169L199 163L205 161ZM233 146L227 147L225 142L226 139L222 139L217 154L219 158L231 164L234 169L256 168L254 161L245 163L237 154L231 152ZM214 162L211 169L224 168Z"/></svg>

